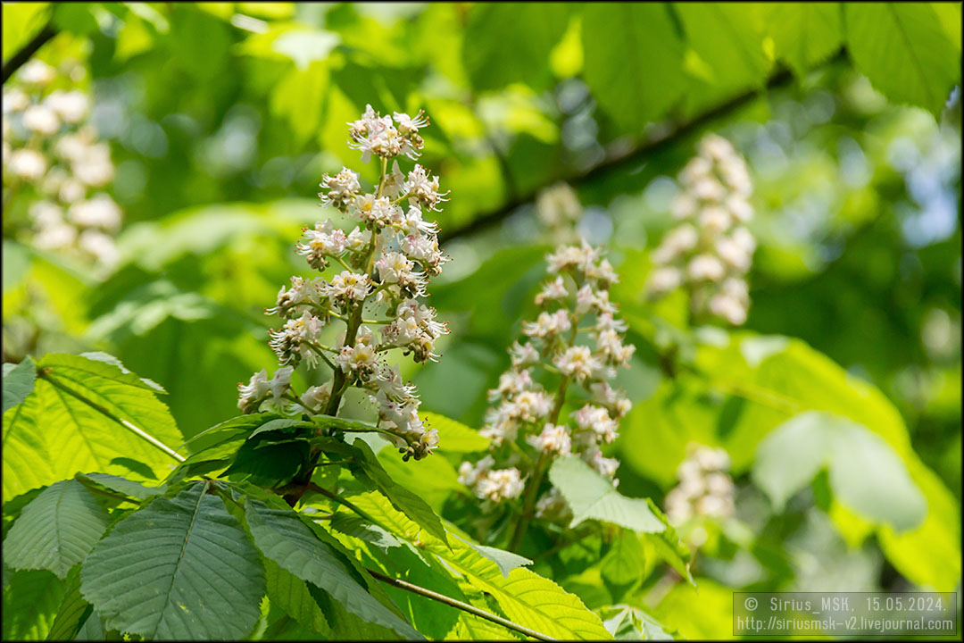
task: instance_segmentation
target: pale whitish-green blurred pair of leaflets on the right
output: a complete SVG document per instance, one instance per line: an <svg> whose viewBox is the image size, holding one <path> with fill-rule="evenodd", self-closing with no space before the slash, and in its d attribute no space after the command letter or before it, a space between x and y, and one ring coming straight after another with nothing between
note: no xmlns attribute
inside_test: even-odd
<svg viewBox="0 0 964 643"><path fill-rule="evenodd" d="M824 467L837 499L862 516L898 531L924 520L924 496L894 449L835 415L808 412L777 427L760 443L753 479L779 510Z"/></svg>

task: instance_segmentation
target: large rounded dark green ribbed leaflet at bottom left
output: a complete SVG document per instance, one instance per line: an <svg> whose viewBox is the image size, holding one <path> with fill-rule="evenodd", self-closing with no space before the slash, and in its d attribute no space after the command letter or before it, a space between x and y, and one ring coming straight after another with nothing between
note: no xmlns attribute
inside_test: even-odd
<svg viewBox="0 0 964 643"><path fill-rule="evenodd" d="M118 522L81 569L104 627L147 639L239 639L254 629L264 570L223 500L198 482Z"/></svg>

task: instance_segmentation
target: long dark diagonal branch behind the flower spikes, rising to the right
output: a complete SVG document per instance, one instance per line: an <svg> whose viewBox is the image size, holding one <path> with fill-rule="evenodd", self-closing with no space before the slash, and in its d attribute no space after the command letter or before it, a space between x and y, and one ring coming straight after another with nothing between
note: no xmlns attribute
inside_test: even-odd
<svg viewBox="0 0 964 643"><path fill-rule="evenodd" d="M828 60L828 63L836 62L844 57L844 49L841 49L836 56ZM777 87L782 87L790 83L792 79L792 74L790 69L782 68L776 73L774 73L766 81L766 90L772 90ZM755 97L759 96L761 91L759 89L751 90L744 94L739 94L730 100L720 103L719 105L711 108L710 110L700 114L691 121L685 121L676 127L671 128L668 132L657 135L648 141L641 143L636 147L631 147L627 151L622 151L616 153L608 158L604 159L598 165L594 166L588 172L582 174L571 174L569 176L559 176L551 181L554 183L557 180L564 180L568 183L578 185L579 183L586 183L600 178L606 174L618 174L620 172L625 172L637 165L641 160L645 159L651 154L654 154L666 147L673 146L681 138L689 134L690 132L696 131L706 125L711 121L725 116L739 107L747 104ZM536 194L541 187L529 191L525 195L520 195L515 199L507 201L505 204L501 205L497 209L491 212L485 212L475 217L469 224L461 228L446 228L446 231L440 234L440 241L447 241L455 237L465 236L467 234L472 234L478 232L484 228L495 225L505 217L509 216L516 208L523 205L529 201L533 201Z"/></svg>

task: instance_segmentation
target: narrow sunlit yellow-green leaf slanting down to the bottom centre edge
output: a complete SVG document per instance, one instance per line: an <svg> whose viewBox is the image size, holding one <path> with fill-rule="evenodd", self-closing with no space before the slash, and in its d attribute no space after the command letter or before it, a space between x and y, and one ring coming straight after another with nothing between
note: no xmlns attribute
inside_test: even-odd
<svg viewBox="0 0 964 643"><path fill-rule="evenodd" d="M378 494L352 496L351 501L395 536L435 555L453 576L464 576L472 587L491 595L511 621L563 640L611 638L596 614L548 578L523 568L503 576L492 558L460 538L450 537L446 545L426 534Z"/></svg>

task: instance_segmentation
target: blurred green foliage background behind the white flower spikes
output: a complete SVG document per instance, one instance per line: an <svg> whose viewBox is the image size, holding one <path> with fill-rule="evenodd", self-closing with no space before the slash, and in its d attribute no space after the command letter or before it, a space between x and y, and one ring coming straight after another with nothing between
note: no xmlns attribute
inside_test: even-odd
<svg viewBox="0 0 964 643"><path fill-rule="evenodd" d="M71 83L93 94L124 227L108 274L39 250L35 198L8 186L5 169L4 362L104 350L167 388L185 437L235 415L236 383L276 362L263 309L291 275L308 276L292 248L326 216L321 175L362 168L346 121L366 103L424 109L421 162L451 190L439 224L454 259L431 290L452 330L442 361L404 373L424 410L480 426L505 349L537 310L555 238L535 198L568 182L584 208L579 233L605 245L621 275L612 296L638 349L620 374L636 407L615 445L620 491L661 505L689 441L722 445L734 461L743 531L724 529L701 553L698 597L648 587L648 607L683 634L730 636L732 588L959 591L961 99L959 87L934 87L959 83L960 7L900 10L920 12L910 16L924 30L911 34L926 53L920 83L861 40L862 25L879 24L865 11L5 3L5 61L49 22L56 35L36 56L79 64ZM794 19L812 20L817 36L800 44ZM719 347L723 331L687 328L683 302L644 296L649 253L672 226L674 177L708 132L747 160L760 244L743 335L723 329L724 340L805 342L756 380L810 400L804 408L837 404L851 380L882 391L928 520L943 512L913 542L850 512L820 477L776 511L750 470L778 422L673 367L736 359ZM364 166L362 178L377 171ZM594 598L607 590L592 578L557 580L612 603Z"/></svg>

